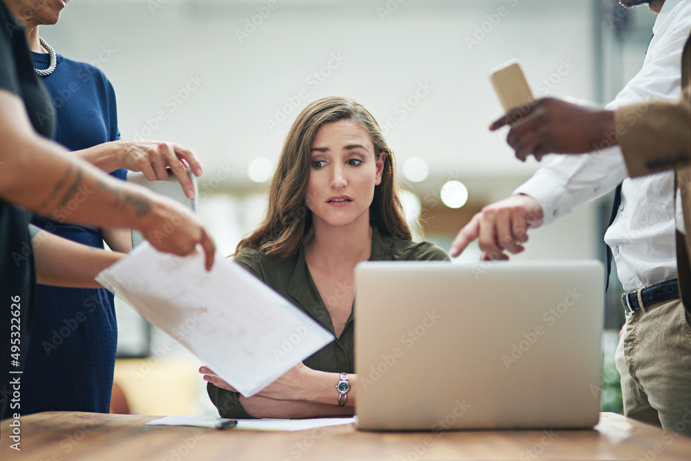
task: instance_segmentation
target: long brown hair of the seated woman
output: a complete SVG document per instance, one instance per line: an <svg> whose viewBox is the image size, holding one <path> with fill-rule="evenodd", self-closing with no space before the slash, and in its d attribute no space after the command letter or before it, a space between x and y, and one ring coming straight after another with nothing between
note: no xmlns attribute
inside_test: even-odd
<svg viewBox="0 0 691 461"><path fill-rule="evenodd" d="M312 225L312 211L305 205L310 180L312 142L325 123L352 120L370 133L375 156L386 152L381 183L375 187L370 205L370 224L381 234L410 241L410 228L403 217L397 195L394 156L375 117L349 97L325 97L312 102L298 115L283 144L281 158L269 188L269 207L259 227L238 243L236 253L256 248L272 258L295 254Z"/></svg>

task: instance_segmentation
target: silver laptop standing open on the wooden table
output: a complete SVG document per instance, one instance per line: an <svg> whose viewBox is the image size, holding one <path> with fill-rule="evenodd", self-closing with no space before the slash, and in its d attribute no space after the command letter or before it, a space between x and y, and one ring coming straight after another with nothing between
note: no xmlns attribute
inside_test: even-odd
<svg viewBox="0 0 691 461"><path fill-rule="evenodd" d="M603 281L598 261L361 263L358 428L593 427Z"/></svg>

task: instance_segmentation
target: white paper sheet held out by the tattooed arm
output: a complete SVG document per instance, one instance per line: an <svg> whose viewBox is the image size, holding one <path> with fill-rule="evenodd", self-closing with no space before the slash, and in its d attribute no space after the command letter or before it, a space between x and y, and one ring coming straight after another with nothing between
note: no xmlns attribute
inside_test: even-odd
<svg viewBox="0 0 691 461"><path fill-rule="evenodd" d="M250 397L333 341L330 332L237 263L182 258L149 243L96 281Z"/></svg>

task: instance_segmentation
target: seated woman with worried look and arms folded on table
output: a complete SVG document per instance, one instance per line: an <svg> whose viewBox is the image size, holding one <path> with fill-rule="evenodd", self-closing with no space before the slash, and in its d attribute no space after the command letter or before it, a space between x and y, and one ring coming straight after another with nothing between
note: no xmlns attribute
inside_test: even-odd
<svg viewBox="0 0 691 461"><path fill-rule="evenodd" d="M206 367L222 417L352 415L354 267L361 261L448 260L415 243L401 213L394 158L358 102L327 97L294 122L269 190L263 223L240 241L235 261L312 316L334 341L253 397ZM347 377L345 376L347 374ZM337 384L350 382L341 395Z"/></svg>

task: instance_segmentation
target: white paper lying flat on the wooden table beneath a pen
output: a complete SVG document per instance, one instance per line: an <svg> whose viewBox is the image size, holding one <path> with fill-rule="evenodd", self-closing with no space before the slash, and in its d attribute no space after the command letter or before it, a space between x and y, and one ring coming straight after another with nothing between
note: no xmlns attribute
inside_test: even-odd
<svg viewBox="0 0 691 461"><path fill-rule="evenodd" d="M234 429L244 429L245 431L305 431L307 429L317 429L326 426L339 426L350 424L354 421L352 417L323 417L309 420L227 420L225 418L215 418L206 416L167 416L146 422L147 426L197 426L218 428L227 422L237 422ZM232 427L232 426L230 426Z"/></svg>

